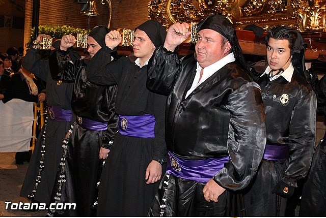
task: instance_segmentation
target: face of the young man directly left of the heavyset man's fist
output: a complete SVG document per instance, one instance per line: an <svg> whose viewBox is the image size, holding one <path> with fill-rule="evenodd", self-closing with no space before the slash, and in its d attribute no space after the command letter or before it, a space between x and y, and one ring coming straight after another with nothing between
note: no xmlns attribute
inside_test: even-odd
<svg viewBox="0 0 326 218"><path fill-rule="evenodd" d="M144 60L149 59L155 50L155 46L147 36L147 34L140 29L134 32L133 41L133 55Z"/></svg>

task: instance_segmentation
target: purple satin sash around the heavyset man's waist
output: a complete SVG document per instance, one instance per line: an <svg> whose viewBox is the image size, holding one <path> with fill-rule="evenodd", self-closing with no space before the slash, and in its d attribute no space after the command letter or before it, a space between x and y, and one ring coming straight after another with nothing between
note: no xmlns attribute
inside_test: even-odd
<svg viewBox="0 0 326 218"><path fill-rule="evenodd" d="M169 152L167 173L192 181L208 182L224 168L224 164L229 160L230 157L226 156L223 158L189 161L177 158L173 153Z"/></svg>

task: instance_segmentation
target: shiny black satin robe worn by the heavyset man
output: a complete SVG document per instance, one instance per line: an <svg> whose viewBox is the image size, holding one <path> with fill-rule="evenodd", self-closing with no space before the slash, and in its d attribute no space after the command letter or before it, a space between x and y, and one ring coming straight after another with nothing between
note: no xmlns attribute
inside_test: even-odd
<svg viewBox="0 0 326 218"><path fill-rule="evenodd" d="M227 191L245 188L258 168L265 147L264 109L259 86L251 82L248 73L238 63L233 62L216 71L185 98L196 74L194 55L179 60L175 53L159 47L151 60L147 86L168 95L168 150L186 160L229 155L230 161L214 175L214 180ZM175 183L170 185L170 181L167 194L170 202L167 200L165 215L199 215L187 213L193 208L177 213L181 208L177 205L187 200L185 197L181 199ZM157 196L161 191L164 192L160 190ZM169 195L175 195L174 199ZM187 198L193 195L189 194ZM202 199L201 193L198 201ZM151 215L159 215L160 201L156 198Z"/></svg>

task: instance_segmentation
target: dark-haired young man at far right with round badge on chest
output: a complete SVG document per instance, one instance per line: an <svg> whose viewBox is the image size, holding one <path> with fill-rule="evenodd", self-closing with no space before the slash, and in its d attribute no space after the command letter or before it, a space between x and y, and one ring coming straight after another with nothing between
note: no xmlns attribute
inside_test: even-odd
<svg viewBox="0 0 326 218"><path fill-rule="evenodd" d="M297 180L307 176L315 144L316 96L305 71L306 46L287 26L271 28L266 37L268 66L256 81L267 139L261 165L244 195L249 216L284 216ZM256 66L252 71L258 73Z"/></svg>

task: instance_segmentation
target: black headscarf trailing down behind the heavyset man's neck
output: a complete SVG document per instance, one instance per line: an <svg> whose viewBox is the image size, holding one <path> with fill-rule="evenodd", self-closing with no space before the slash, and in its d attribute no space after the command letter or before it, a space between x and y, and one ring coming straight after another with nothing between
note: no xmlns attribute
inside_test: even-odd
<svg viewBox="0 0 326 218"><path fill-rule="evenodd" d="M240 62L240 64L244 68L249 71L246 60L244 60L242 50L239 45L238 38L236 36L236 30L227 18L219 14L209 15L197 24L197 33L199 33L199 31L202 29L212 29L227 38L232 46L234 57Z"/></svg>

